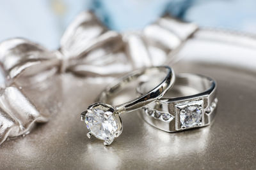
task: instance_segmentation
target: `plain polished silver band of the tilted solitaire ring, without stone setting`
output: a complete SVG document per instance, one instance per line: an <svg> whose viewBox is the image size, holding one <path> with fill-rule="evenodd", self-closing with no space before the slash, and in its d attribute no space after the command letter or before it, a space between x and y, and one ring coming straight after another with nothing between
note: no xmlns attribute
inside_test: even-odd
<svg viewBox="0 0 256 170"><path fill-rule="evenodd" d="M111 83L111 85L106 87L106 89L101 92L100 96L97 99L97 102L107 103L108 99L114 96L117 92L120 92L127 85L127 83L135 81L140 76L145 76L152 72L163 72L165 74L164 80L160 81L161 83L159 83L159 85L157 85L156 87L152 87L152 89L149 89L147 92L142 93L140 97L137 97L136 99L133 99L132 101L129 101L127 103L119 104L118 106L115 106L115 108L116 112L118 112L119 114L127 113L142 108L143 106L146 106L153 101L156 101L157 99L162 97L165 92L167 92L174 84L174 72L168 66L148 67L132 71L131 73L123 76L122 78L119 78L115 82Z"/></svg>

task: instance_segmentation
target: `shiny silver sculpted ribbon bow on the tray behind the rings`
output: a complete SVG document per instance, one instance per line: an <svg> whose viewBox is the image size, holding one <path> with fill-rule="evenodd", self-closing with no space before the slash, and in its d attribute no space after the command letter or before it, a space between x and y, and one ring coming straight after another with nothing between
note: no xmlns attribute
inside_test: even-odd
<svg viewBox="0 0 256 170"><path fill-rule="evenodd" d="M40 112L41 106L35 106L19 87L33 85L57 72L113 76L171 62L173 50L196 30L195 24L165 16L143 31L120 34L109 31L93 13L83 12L63 34L58 50L49 51L22 38L3 41L0 145L8 137L28 133L36 122L47 122L51 116L47 111Z"/></svg>

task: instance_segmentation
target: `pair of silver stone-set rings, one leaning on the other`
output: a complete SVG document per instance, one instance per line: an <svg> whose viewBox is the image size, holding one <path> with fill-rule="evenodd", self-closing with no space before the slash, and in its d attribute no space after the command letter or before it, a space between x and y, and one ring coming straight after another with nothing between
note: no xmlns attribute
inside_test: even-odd
<svg viewBox="0 0 256 170"><path fill-rule="evenodd" d="M136 88L139 97L117 106L107 104L132 81L140 82ZM140 110L148 124L166 132L177 132L211 124L217 103L216 82L211 78L190 73L175 76L168 66L147 67L108 85L97 103L81 113L81 120L89 130L88 138L95 136L104 145L110 145L122 134L121 114Z"/></svg>

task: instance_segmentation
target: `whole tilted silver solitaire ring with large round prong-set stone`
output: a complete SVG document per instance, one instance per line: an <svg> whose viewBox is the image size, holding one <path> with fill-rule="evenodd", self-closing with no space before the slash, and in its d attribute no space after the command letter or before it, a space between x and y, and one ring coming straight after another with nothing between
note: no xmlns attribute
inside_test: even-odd
<svg viewBox="0 0 256 170"><path fill-rule="evenodd" d="M157 77L164 75L163 80L159 81L159 83L154 81L154 84L156 85L152 89L149 89L147 92L145 91L145 93L141 93L140 97L132 99L127 103L119 104L117 106L106 104L108 103L108 99L124 89L128 83L135 80L140 81L150 79L151 74L156 74ZM92 104L88 107L88 110L81 113L81 120L85 121L86 127L89 130L87 134L88 138L91 138L93 135L96 138L103 140L104 145L110 145L113 140L122 133L123 127L120 114L137 110L161 98L167 90L172 87L174 81L175 74L168 66L138 69L114 81L100 94L97 100L98 103Z"/></svg>

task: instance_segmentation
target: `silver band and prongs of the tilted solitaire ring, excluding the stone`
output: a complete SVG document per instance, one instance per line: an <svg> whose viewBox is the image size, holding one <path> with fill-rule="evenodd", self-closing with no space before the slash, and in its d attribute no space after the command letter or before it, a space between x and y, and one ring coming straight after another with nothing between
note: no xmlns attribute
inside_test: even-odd
<svg viewBox="0 0 256 170"><path fill-rule="evenodd" d="M136 97L136 99L132 99L131 101L128 101L123 104L118 104L117 106L105 104L108 103L108 100L111 97L115 96L118 92L122 91L122 89L124 89L128 83L131 83L132 81L138 81L141 77L145 78L146 76L148 76L148 78L151 78L152 73L154 74L154 76L157 76L157 73L159 74L159 76L160 73L164 74L164 79L159 81L160 83L157 83L156 87L153 87L152 89L143 92L141 96ZM108 112L104 113L104 117L108 116L106 115L106 113L111 114L113 116L118 115L118 117L116 118L118 120L118 122L116 122L116 124L118 125L118 134L116 134L116 138L120 136L120 134L122 133L122 121L120 118L120 114L138 110L139 108L142 108L143 106L146 106L147 104L152 103L157 99L161 98L167 92L167 90L169 90L172 87L174 81L175 74L173 70L168 66L146 67L132 71L131 73L123 76L122 78L119 78L116 81L113 81L113 83L108 85L108 87L106 87L106 89L101 92L100 96L97 99L97 103L90 105L87 111L81 113L81 120L86 120L86 114L92 113L93 108L99 105L108 107ZM90 127L88 127L88 130L91 131ZM97 137L96 135L94 136ZM90 137L90 135L88 137ZM104 145L110 145L112 141L113 139L111 139L111 142L107 143L106 140L104 140Z"/></svg>

